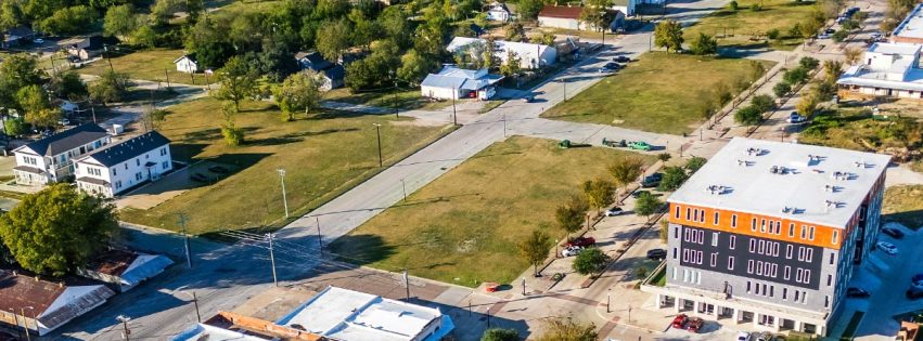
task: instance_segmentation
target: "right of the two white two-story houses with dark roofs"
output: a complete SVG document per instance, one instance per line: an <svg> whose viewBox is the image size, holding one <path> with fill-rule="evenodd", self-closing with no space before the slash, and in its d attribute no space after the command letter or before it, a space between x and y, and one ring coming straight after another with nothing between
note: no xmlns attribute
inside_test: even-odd
<svg viewBox="0 0 923 341"><path fill-rule="evenodd" d="M105 197L156 181L174 169L170 141L156 131L100 149L75 165L77 187Z"/></svg>

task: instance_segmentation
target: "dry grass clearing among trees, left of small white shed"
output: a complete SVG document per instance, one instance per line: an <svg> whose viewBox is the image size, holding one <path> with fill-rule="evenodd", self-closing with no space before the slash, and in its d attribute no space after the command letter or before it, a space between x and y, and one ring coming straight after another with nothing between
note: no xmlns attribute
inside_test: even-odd
<svg viewBox="0 0 923 341"><path fill-rule="evenodd" d="M114 55L119 56L112 58L112 66L116 73L128 74L128 77L131 79L166 82L167 76L164 71L167 71L170 82L191 84L192 78L190 75L178 73L174 64L174 61L182 56L182 50L166 49L144 50L128 54L114 53ZM108 73L108 62L104 60L87 64L82 68L77 69L78 73L86 75L103 75ZM202 74L195 75L195 83L204 84L205 76Z"/></svg>

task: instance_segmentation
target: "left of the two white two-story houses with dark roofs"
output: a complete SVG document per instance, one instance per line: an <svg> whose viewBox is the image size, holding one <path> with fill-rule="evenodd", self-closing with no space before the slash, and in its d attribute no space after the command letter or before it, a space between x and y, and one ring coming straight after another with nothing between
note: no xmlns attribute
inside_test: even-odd
<svg viewBox="0 0 923 341"><path fill-rule="evenodd" d="M22 185L44 185L74 173L74 159L111 142L105 129L86 123L13 149L13 174Z"/></svg>

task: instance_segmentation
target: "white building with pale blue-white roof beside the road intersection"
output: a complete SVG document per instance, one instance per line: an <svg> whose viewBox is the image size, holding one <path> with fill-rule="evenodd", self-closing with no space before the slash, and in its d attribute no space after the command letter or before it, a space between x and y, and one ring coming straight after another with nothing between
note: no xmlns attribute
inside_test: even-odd
<svg viewBox="0 0 923 341"><path fill-rule="evenodd" d="M438 74L430 74L420 83L424 97L437 100L478 99L489 100L497 93L500 75L490 75L487 69L470 70L444 66Z"/></svg>

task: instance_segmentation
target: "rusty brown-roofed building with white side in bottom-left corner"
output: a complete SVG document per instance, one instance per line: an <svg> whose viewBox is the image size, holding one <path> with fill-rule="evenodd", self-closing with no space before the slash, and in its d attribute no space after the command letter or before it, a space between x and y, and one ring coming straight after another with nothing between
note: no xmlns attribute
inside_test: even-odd
<svg viewBox="0 0 923 341"><path fill-rule="evenodd" d="M64 284L0 270L0 323L44 336L115 294L99 284Z"/></svg>

